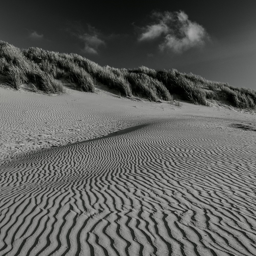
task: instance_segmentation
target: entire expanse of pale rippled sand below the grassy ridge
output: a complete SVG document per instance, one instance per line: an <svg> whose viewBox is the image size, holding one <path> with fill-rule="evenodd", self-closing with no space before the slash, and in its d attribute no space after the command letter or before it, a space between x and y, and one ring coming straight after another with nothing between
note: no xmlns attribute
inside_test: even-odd
<svg viewBox="0 0 256 256"><path fill-rule="evenodd" d="M256 118L0 87L0 255L255 255Z"/></svg>

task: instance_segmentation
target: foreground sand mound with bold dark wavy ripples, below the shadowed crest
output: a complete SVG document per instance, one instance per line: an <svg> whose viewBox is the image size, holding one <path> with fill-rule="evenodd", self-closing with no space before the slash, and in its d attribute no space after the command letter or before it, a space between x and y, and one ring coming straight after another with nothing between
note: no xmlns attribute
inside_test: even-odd
<svg viewBox="0 0 256 256"><path fill-rule="evenodd" d="M4 163L0 255L255 255L253 134L159 117Z"/></svg>

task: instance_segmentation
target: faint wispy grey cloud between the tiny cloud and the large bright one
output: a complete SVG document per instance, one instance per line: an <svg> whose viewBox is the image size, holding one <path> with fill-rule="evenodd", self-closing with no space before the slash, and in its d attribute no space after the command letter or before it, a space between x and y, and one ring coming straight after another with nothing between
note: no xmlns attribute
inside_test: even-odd
<svg viewBox="0 0 256 256"><path fill-rule="evenodd" d="M71 34L76 36L84 43L84 52L89 54L98 54L99 46L105 45L105 41L101 38L102 35L99 30L90 25L87 26L87 32L85 32L80 26L76 28L76 32L72 32Z"/></svg>

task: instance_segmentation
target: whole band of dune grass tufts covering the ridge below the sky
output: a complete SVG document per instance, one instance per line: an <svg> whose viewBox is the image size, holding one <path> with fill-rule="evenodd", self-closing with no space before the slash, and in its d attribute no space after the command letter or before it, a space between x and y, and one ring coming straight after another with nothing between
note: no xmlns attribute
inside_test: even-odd
<svg viewBox="0 0 256 256"><path fill-rule="evenodd" d="M34 91L65 93L57 80L66 78L76 89L94 92L100 82L127 97L141 95L151 101L173 101L172 94L194 104L209 105L209 100L226 99L237 108L256 109L256 92L234 88L228 83L209 81L176 69L154 70L145 66L118 69L100 66L78 54L43 50L38 47L19 49L0 41L0 74L19 89L27 84Z"/></svg>

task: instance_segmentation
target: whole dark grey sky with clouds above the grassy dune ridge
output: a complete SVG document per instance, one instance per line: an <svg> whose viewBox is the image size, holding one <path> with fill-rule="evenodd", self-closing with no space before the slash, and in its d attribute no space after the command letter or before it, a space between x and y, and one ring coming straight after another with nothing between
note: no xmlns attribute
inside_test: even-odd
<svg viewBox="0 0 256 256"><path fill-rule="evenodd" d="M1 2L0 40L17 47L256 89L256 1Z"/></svg>

